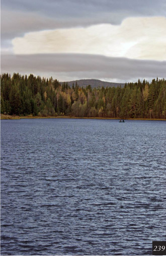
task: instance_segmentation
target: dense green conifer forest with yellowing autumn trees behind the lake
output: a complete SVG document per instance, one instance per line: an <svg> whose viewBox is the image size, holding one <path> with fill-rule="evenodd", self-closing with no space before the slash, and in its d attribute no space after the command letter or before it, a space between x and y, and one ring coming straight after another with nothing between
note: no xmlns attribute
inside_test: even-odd
<svg viewBox="0 0 166 256"><path fill-rule="evenodd" d="M72 87L33 75L1 75L1 113L10 115L166 118L166 81L123 88Z"/></svg>

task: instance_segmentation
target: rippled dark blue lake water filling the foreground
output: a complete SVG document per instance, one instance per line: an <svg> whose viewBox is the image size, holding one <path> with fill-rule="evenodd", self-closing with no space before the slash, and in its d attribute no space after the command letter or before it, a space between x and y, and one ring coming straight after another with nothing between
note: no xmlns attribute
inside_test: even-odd
<svg viewBox="0 0 166 256"><path fill-rule="evenodd" d="M150 255L166 238L166 122L1 121L3 255Z"/></svg>

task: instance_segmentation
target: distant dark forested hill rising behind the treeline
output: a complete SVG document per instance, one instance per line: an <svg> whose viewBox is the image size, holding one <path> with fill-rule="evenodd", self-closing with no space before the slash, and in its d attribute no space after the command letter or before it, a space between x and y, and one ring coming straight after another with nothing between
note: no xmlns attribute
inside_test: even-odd
<svg viewBox="0 0 166 256"><path fill-rule="evenodd" d="M60 82L60 84L63 84L64 82ZM65 82L69 86L72 85L78 85L79 87L87 87L88 85L91 85L92 88L97 88L97 87L124 87L125 84L122 83L111 83L111 82L104 82L98 79L81 79L81 80L75 80L75 81L69 81Z"/></svg>

